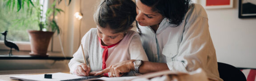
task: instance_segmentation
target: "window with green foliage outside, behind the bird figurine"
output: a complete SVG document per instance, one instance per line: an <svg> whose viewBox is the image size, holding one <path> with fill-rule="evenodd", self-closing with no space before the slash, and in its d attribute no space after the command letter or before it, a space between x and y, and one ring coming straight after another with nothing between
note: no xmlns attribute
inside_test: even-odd
<svg viewBox="0 0 256 81"><path fill-rule="evenodd" d="M17 12L17 1L12 1L11 6L8 7L9 0L0 0L0 32L8 31L6 39L16 43L20 50L30 50L29 36L27 30L39 30L38 26L38 13L36 10L32 10L32 5L28 7L26 0L22 0L22 8ZM44 5L48 6L48 0L32 0L34 6L40 6L44 2ZM44 7L43 13L47 11L47 7ZM23 47L23 48L21 48ZM4 35L0 34L0 49L8 49L4 45Z"/></svg>

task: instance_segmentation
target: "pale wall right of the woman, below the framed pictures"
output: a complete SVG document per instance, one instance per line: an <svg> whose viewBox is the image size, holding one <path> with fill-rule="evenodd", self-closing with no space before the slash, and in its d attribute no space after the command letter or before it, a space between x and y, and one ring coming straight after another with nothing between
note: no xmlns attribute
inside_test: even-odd
<svg viewBox="0 0 256 81"><path fill-rule="evenodd" d="M238 18L238 2L233 8L206 10L217 60L256 68L256 18Z"/></svg>

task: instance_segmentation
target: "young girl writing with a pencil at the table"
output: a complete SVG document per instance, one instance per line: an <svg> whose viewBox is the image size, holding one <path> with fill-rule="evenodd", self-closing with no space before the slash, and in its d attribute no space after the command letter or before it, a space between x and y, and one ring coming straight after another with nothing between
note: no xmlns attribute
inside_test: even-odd
<svg viewBox="0 0 256 81"><path fill-rule="evenodd" d="M70 73L88 76L90 71L104 70L125 60L147 61L139 34L130 30L135 18L136 4L132 0L102 1L94 14L97 28L90 29L81 40L87 64L83 63L80 47L68 64ZM111 76L115 77L115 73Z"/></svg>

